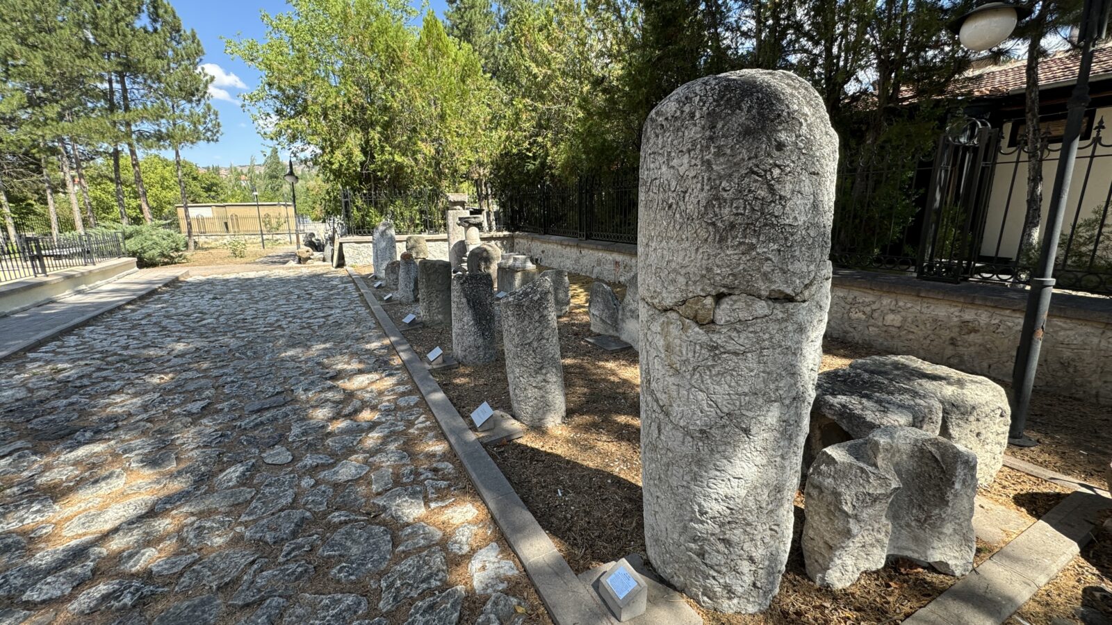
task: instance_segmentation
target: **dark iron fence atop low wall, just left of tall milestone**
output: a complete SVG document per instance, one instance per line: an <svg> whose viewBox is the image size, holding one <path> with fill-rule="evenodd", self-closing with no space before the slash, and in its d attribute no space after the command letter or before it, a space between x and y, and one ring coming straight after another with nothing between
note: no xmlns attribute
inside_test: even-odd
<svg viewBox="0 0 1112 625"><path fill-rule="evenodd" d="M637 242L636 173L496 187L493 196L509 230Z"/></svg>

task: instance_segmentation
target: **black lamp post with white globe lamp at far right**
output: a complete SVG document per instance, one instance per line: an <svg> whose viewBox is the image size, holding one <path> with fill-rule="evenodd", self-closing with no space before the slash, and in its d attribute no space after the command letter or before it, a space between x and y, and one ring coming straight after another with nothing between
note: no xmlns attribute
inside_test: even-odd
<svg viewBox="0 0 1112 625"><path fill-rule="evenodd" d="M1023 315L1023 330L1020 348L1015 354L1012 369L1012 427L1007 442L1016 447L1033 447L1039 443L1023 434L1031 407L1031 388L1039 367L1039 351L1046 334L1046 314L1050 298L1054 292L1054 261L1058 257L1058 239L1062 235L1062 219L1065 216L1065 200L1070 195L1070 180L1078 156L1078 139L1085 109L1089 107L1089 75L1093 67L1093 44L1104 37L1108 28L1109 8L1112 0L1085 0L1078 30L1081 44L1081 66L1078 82L1070 96L1069 116L1062 135L1062 151L1054 173L1054 187L1050 195L1050 212L1043 228L1042 249L1039 264L1031 275L1031 290ZM969 13L950 22L951 31L957 33L962 44L971 50L987 50L1000 44L1012 33L1020 19L1031 14L1030 9L1011 2L986 2Z"/></svg>

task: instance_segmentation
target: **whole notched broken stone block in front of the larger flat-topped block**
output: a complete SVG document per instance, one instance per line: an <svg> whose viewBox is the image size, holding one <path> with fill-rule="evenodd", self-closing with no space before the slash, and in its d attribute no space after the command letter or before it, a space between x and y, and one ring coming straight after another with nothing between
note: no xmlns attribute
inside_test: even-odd
<svg viewBox="0 0 1112 625"><path fill-rule="evenodd" d="M807 475L803 555L821 586L907 557L947 575L973 568L976 456L940 436L884 427L820 452Z"/></svg>

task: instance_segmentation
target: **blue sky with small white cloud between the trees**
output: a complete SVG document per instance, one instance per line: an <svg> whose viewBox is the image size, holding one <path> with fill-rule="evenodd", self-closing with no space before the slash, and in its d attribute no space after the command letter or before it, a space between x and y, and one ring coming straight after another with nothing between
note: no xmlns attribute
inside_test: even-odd
<svg viewBox="0 0 1112 625"><path fill-rule="evenodd" d="M410 1L415 7L421 6L420 0ZM438 16L444 16L445 0L430 0L429 3ZM242 165L252 155L262 162L262 155L270 146L259 137L251 116L239 105L240 93L254 89L259 75L239 59L224 53L224 38L261 39L266 30L259 19L260 12L287 12L289 4L285 0L173 0L173 7L185 26L196 30L205 46L203 67L216 77L210 93L224 130L219 141L186 148L182 157L201 166ZM286 158L285 152L282 158Z"/></svg>

